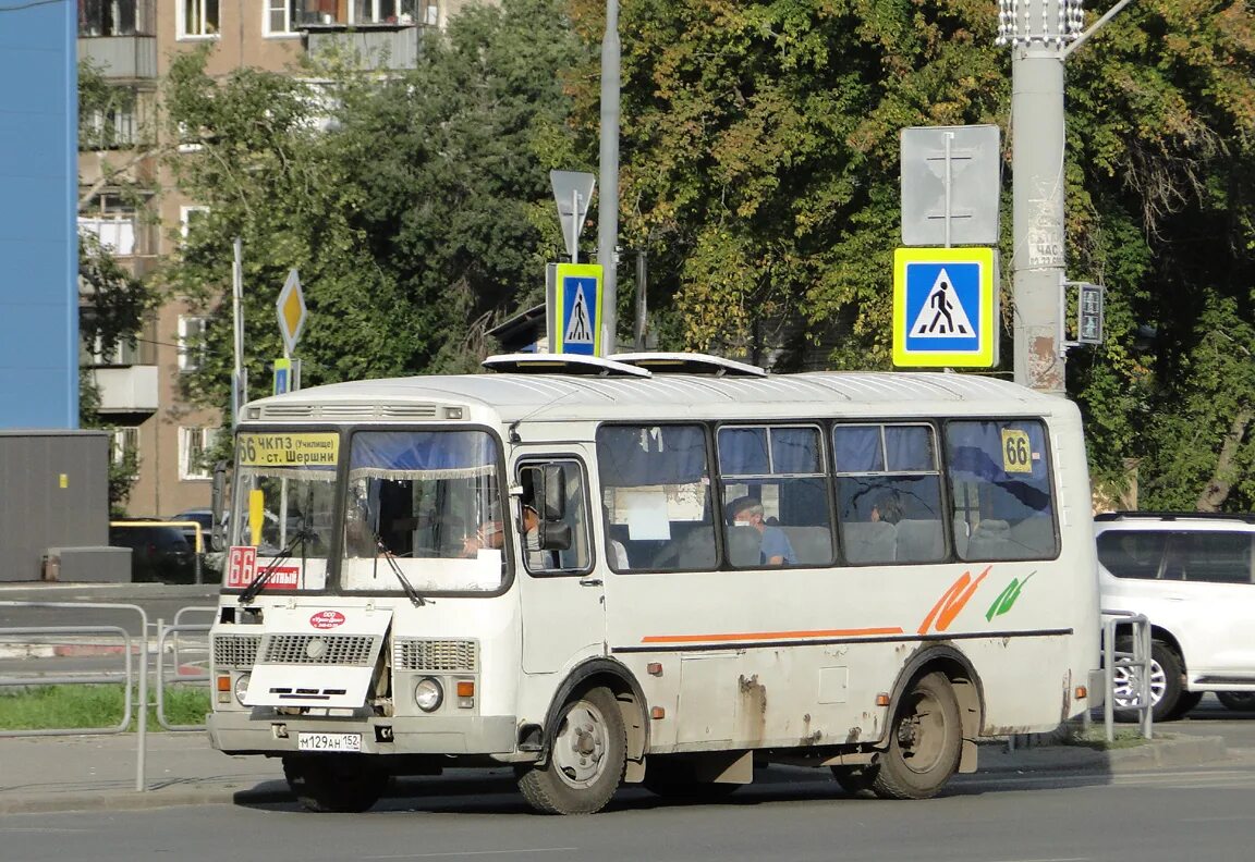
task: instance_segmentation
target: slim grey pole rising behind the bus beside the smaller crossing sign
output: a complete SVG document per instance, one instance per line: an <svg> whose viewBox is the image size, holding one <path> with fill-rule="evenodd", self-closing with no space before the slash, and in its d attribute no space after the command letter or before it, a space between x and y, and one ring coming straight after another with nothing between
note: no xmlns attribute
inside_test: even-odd
<svg viewBox="0 0 1255 862"><path fill-rule="evenodd" d="M597 202L597 263L601 264L601 333L606 356L614 353L619 326L619 0L606 0L601 38L601 198Z"/></svg>

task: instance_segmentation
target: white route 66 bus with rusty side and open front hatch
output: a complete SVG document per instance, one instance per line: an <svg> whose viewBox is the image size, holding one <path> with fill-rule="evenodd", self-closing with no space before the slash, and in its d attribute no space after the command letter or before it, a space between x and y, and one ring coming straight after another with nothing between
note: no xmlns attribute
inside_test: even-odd
<svg viewBox="0 0 1255 862"><path fill-rule="evenodd" d="M1069 401L683 353L484 365L242 410L210 733L282 758L305 806L502 764L558 813L768 763L926 798L1101 690Z"/></svg>

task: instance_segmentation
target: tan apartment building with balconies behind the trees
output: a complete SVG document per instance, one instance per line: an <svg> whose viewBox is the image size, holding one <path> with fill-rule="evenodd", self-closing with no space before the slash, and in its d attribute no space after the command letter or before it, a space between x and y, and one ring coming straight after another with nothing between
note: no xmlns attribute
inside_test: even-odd
<svg viewBox="0 0 1255 862"><path fill-rule="evenodd" d="M302 53L316 56L348 41L375 68L405 69L415 63L423 28L443 28L474 1L78 0L79 59L100 69L117 94L90 118L93 134L80 147L80 233L99 237L143 278L177 248L196 217L197 202L174 190L162 164L167 142L157 122L158 88L172 53L210 43L208 71L226 75L243 66L284 71ZM83 314L93 313L90 296L80 302ZM197 366L186 346L202 326L203 318L176 298L112 355L84 345L83 373L95 381L100 412L115 427L115 457L127 450L138 455L127 506L132 516L210 504L202 454L223 417L183 402L178 386L179 376Z"/></svg>

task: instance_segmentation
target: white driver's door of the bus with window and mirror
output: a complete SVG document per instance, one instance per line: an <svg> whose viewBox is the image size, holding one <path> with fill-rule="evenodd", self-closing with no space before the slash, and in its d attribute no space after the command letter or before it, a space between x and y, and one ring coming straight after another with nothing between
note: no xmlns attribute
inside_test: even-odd
<svg viewBox="0 0 1255 862"><path fill-rule="evenodd" d="M605 573L592 544L585 464L582 454L528 456L516 469L525 673L555 673L605 653Z"/></svg>

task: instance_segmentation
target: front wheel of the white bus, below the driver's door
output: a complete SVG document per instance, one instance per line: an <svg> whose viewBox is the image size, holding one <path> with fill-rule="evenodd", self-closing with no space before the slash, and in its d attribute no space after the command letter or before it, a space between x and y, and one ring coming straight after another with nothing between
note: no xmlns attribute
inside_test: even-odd
<svg viewBox="0 0 1255 862"><path fill-rule="evenodd" d="M610 802L628 767L619 702L590 688L563 704L543 766L521 767L518 789L545 814L592 814Z"/></svg>

